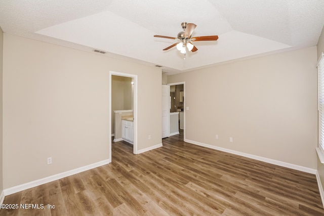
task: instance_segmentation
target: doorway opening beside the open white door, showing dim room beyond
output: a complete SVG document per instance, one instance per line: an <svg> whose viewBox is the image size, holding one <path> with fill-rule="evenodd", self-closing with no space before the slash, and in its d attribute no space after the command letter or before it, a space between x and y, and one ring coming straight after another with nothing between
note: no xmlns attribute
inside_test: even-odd
<svg viewBox="0 0 324 216"><path fill-rule="evenodd" d="M179 132L180 134L183 133L183 138L185 137L185 110L186 110L186 84L185 82L175 82L175 83L169 83L170 85L170 100L171 100L171 106L170 106L170 113L172 116L172 113L178 114L178 121L179 121Z"/></svg>

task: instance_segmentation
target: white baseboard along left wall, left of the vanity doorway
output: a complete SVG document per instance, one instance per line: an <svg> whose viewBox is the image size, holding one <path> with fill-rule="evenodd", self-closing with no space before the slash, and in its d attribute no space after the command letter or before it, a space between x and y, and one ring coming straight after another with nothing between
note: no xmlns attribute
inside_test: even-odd
<svg viewBox="0 0 324 216"><path fill-rule="evenodd" d="M38 179L38 180L28 182L28 183L25 183L25 184L22 184L22 185L17 185L17 186L11 187L11 188L7 188L7 189L4 190L4 194L5 194L5 196L10 195L10 194L14 194L14 193L17 193L17 192L20 192L20 191L23 191L23 190L27 190L29 188L33 188L33 187L36 187L36 186L39 186L39 185L43 185L43 184L46 184L46 183L49 183L49 182L53 182L55 180L59 180L59 179L62 179L62 178L68 177L68 176L72 176L74 174L78 174L79 172L83 172L83 171L86 171L86 170L89 170L89 169L93 169L93 168L96 168L98 166L106 165L106 164L108 164L110 162L111 162L111 159L102 160L102 161L99 161L99 162L96 162L96 163L93 163L93 164L89 164L89 165L86 165L86 166L83 166L83 167L79 167L79 168L72 169L72 170L69 170L69 171L61 172L60 174L49 176L49 177L46 177L44 179Z"/></svg>

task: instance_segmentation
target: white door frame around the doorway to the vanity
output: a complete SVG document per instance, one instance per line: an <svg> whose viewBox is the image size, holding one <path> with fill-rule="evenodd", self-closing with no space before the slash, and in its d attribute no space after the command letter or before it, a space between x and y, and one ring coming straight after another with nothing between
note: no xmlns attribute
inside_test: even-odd
<svg viewBox="0 0 324 216"><path fill-rule="evenodd" d="M109 158L111 161L111 76L125 76L134 79L134 91L133 91L133 115L134 115L134 141L133 141L133 154L137 154L137 75L130 73L121 73L116 71L109 71Z"/></svg>

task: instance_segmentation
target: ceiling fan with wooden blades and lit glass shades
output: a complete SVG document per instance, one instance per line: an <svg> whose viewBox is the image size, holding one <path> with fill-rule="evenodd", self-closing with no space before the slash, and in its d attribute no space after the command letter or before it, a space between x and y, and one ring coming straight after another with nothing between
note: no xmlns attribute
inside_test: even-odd
<svg viewBox="0 0 324 216"><path fill-rule="evenodd" d="M191 51L191 52L196 52L198 50L192 44L193 41L217 40L218 39L217 35L191 37L191 34L196 27L196 25L193 23L183 22L183 23L181 23L181 27L183 28L183 31L180 31L178 33L178 37L169 37L169 36L162 36L162 35L154 35L154 37L162 37L162 38L180 40L180 42L176 42L175 44L167 47L164 50L169 50L170 48L177 46L177 49L180 51L180 53L185 54L185 55L186 55L186 48L188 49L188 51Z"/></svg>

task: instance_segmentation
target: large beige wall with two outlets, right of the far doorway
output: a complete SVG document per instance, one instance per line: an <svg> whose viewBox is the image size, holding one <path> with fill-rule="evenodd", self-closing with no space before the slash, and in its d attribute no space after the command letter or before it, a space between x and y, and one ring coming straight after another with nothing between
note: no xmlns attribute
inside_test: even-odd
<svg viewBox="0 0 324 216"><path fill-rule="evenodd" d="M186 139L316 169L316 59L313 47L168 76L185 81Z"/></svg>

